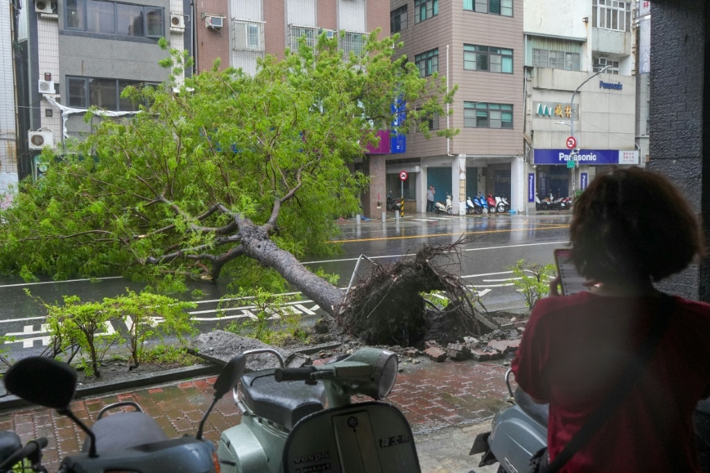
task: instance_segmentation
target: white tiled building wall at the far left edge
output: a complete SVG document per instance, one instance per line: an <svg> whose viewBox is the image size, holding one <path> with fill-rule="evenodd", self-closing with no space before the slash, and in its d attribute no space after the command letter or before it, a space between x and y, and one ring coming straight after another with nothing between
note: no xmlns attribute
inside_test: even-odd
<svg viewBox="0 0 710 473"><path fill-rule="evenodd" d="M0 195L17 182L17 135L13 80L10 2L0 1ZM2 203L0 202L0 205Z"/></svg>

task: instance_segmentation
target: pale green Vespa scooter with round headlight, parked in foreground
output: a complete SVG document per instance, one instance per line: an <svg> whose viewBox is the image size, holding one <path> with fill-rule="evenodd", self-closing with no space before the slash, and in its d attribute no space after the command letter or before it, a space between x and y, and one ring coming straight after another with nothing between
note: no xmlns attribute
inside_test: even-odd
<svg viewBox="0 0 710 473"><path fill-rule="evenodd" d="M414 437L404 415L378 401L351 403L364 394L386 398L395 384L397 355L365 347L327 364L241 375L234 401L239 425L219 437L223 473L420 472Z"/></svg>

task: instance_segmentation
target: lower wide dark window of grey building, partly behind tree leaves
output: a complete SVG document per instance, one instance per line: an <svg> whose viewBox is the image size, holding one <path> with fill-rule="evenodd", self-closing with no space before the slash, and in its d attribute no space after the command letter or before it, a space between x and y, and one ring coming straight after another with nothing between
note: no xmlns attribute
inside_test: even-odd
<svg viewBox="0 0 710 473"><path fill-rule="evenodd" d="M69 106L85 109L93 105L115 112L137 112L138 104L121 97L121 92L129 85L140 87L155 84L138 80L67 77Z"/></svg>

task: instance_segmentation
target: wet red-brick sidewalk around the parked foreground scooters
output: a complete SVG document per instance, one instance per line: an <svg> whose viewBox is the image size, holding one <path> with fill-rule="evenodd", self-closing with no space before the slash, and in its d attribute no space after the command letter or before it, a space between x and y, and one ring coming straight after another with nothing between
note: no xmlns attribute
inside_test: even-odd
<svg viewBox="0 0 710 473"><path fill-rule="evenodd" d="M422 359L420 357L420 359ZM497 465L479 469L478 456L468 452L476 433L486 430L491 416L506 406L503 381L506 368L473 360L418 364L404 363L388 399L405 414L415 433L422 471L426 473L494 472ZM102 407L116 401L136 401L169 437L194 434L209 402L214 377L192 379L148 388L83 398L72 410L89 425ZM205 437L217 442L219 433L239 423L240 415L231 396L217 403L205 425ZM45 408L22 408L0 413L0 430L13 430L23 442L47 437L48 469L78 452L84 434L68 418Z"/></svg>

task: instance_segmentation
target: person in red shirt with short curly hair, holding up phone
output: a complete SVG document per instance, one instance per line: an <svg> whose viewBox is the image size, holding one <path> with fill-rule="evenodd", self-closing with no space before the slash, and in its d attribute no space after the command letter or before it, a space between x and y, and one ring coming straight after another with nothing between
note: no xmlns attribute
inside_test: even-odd
<svg viewBox="0 0 710 473"><path fill-rule="evenodd" d="M562 297L552 281L511 366L550 403L540 459L559 455L559 472L700 472L692 415L710 394L710 305L654 286L704 256L696 214L662 175L616 169L582 192L569 231L590 290Z"/></svg>

